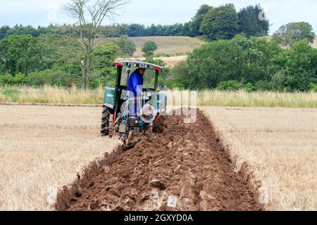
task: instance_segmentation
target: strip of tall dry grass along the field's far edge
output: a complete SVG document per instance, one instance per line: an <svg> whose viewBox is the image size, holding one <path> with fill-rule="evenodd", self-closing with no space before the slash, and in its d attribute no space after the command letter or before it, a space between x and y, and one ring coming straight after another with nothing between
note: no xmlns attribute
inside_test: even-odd
<svg viewBox="0 0 317 225"><path fill-rule="evenodd" d="M165 91L169 98L181 94L180 91ZM189 91L183 91L189 95ZM55 103L55 104L100 104L104 88L83 90L75 87L63 89L44 86L36 89L28 86L0 86L0 103ZM197 91L198 106L228 107L288 107L317 108L317 93L276 93L245 91Z"/></svg>

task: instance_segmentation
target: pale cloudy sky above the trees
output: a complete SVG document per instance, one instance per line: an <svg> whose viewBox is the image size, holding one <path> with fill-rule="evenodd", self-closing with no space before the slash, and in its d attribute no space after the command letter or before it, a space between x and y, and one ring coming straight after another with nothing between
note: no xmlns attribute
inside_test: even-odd
<svg viewBox="0 0 317 225"><path fill-rule="evenodd" d="M0 26L15 24L46 26L74 21L61 10L68 0L0 0ZM308 22L317 34L316 0L131 0L131 4L120 8L118 16L104 24L139 23L143 25L189 22L202 4L221 6L235 4L240 8L261 4L270 20L270 34L281 25L291 22Z"/></svg>

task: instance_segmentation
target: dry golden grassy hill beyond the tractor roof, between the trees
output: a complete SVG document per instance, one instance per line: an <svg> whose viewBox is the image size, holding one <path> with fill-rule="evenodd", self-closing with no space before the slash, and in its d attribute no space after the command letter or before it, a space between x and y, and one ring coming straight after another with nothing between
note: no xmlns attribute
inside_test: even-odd
<svg viewBox="0 0 317 225"><path fill-rule="evenodd" d="M129 37L135 43L137 51L135 57L142 56L142 46L146 41L154 41L158 45L158 50L155 51L156 56L183 56L187 52L192 52L201 45L206 44L198 38L193 37ZM114 39L98 39L97 44L104 44Z"/></svg>

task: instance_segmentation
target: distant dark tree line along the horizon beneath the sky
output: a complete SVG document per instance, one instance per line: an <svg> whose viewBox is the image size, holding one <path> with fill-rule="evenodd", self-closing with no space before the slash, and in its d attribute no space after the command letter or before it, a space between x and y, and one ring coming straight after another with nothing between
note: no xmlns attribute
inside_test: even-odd
<svg viewBox="0 0 317 225"><path fill-rule="evenodd" d="M149 37L149 36L203 36L206 39L230 39L236 34L246 34L259 37L268 34L269 23L263 16L260 5L247 6L239 12L233 4L212 7L203 5L194 18L188 23L174 25L140 25L116 24L100 25L97 37ZM262 16L263 18L261 18ZM41 34L60 34L77 37L80 32L79 25L49 25L47 27L32 27L30 25L15 25L14 27L0 27L0 39L10 35L30 34L39 37Z"/></svg>

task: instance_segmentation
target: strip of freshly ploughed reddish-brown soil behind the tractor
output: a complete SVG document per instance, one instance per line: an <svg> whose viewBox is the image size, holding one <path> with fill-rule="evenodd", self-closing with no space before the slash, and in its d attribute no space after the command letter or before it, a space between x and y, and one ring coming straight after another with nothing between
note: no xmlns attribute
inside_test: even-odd
<svg viewBox="0 0 317 225"><path fill-rule="evenodd" d="M163 134L104 167L68 210L262 210L203 113L183 120L166 117Z"/></svg>

